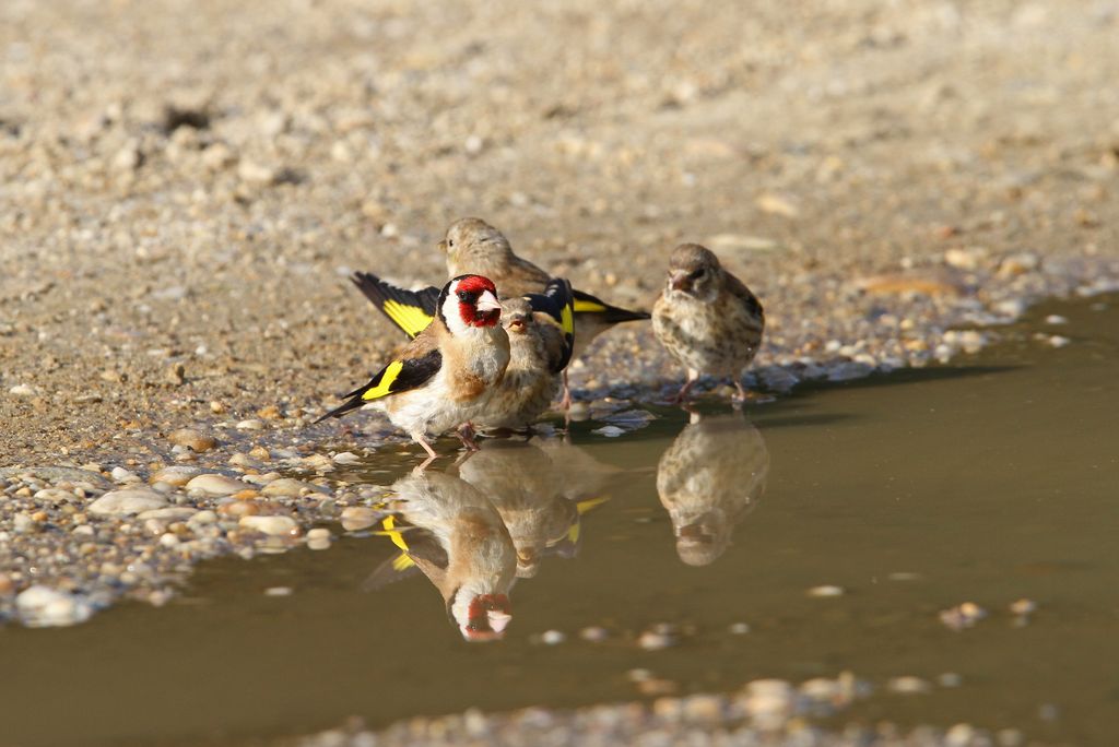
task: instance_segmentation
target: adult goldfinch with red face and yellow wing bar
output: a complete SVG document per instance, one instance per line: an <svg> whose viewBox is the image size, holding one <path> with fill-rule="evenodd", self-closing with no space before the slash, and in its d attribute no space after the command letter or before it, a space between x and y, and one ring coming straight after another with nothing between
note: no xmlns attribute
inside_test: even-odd
<svg viewBox="0 0 1119 747"><path fill-rule="evenodd" d="M451 428L477 448L471 420L486 412L509 365L509 335L492 281L480 275L451 280L436 299L436 316L368 384L319 420L341 417L364 405L382 407L435 458L427 438Z"/></svg>

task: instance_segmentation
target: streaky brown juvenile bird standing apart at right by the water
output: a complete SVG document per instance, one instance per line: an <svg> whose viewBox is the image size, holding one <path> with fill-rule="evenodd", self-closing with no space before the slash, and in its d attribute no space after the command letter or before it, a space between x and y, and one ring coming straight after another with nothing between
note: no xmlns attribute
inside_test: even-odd
<svg viewBox="0 0 1119 747"><path fill-rule="evenodd" d="M700 374L731 376L742 401L742 369L762 341L765 314L758 297L711 249L681 244L668 261L665 291L652 308L652 330L688 371L676 396L684 401Z"/></svg>

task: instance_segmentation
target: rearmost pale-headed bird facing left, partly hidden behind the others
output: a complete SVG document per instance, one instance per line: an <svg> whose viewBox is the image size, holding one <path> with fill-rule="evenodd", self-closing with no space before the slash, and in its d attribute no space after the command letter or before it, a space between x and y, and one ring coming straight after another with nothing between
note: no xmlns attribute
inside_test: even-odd
<svg viewBox="0 0 1119 747"><path fill-rule="evenodd" d="M439 247L446 254L446 270L451 275L469 272L492 277L507 295L538 293L551 280L547 272L514 254L505 235L479 218L455 220ZM614 324L649 319L647 312L611 306L582 291L572 293L575 297L575 358L586 351L591 340ZM565 382L565 404L570 398Z"/></svg>

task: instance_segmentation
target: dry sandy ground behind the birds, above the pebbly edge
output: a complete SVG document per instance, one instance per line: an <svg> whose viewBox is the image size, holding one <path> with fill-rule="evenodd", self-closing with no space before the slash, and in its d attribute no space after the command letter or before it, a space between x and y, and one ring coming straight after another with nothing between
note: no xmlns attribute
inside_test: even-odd
<svg viewBox="0 0 1119 747"><path fill-rule="evenodd" d="M706 242L762 365L920 365L1119 276L1117 31L1098 0L10 0L0 463L302 427L398 342L347 272L439 283L466 215L645 308ZM677 375L648 325L587 363Z"/></svg>

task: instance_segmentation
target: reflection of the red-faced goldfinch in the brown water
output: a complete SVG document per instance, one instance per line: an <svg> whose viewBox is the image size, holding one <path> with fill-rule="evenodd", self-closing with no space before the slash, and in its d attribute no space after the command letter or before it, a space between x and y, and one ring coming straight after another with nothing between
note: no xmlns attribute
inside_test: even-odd
<svg viewBox="0 0 1119 747"><path fill-rule="evenodd" d="M366 587L379 588L414 564L442 594L446 614L466 640L501 639L513 617L509 589L517 555L493 504L469 483L434 472L402 477L384 507L393 513L380 533L402 555L378 567Z"/></svg>

